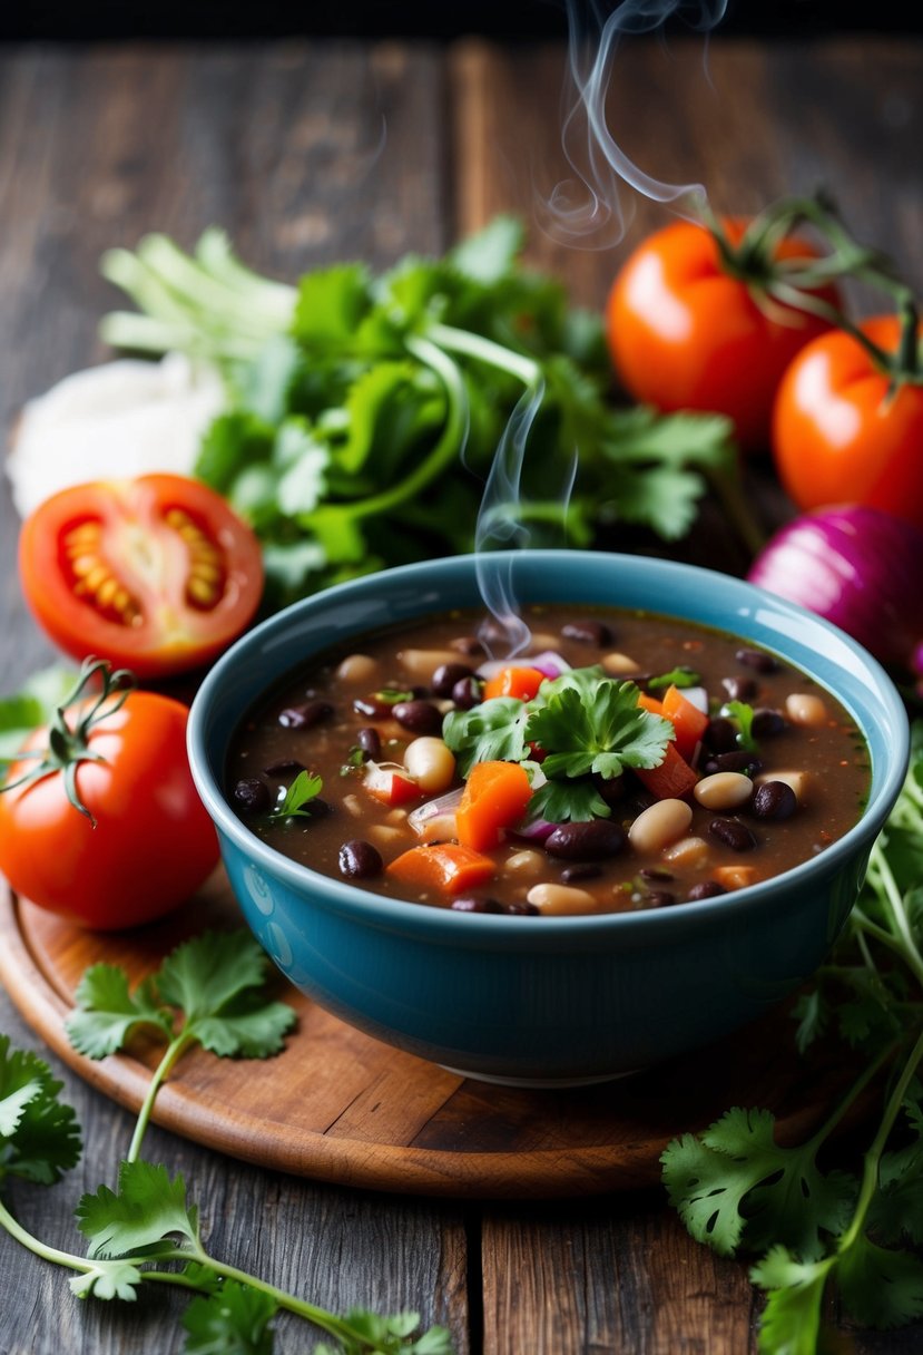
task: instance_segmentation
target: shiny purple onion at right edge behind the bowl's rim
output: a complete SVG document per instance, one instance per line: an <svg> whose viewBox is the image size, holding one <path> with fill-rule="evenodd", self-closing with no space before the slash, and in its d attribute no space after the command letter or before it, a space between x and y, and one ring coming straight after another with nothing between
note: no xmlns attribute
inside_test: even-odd
<svg viewBox="0 0 923 1355"><path fill-rule="evenodd" d="M878 508L796 518L747 579L831 621L888 667L914 669L923 656L923 533Z"/></svg>

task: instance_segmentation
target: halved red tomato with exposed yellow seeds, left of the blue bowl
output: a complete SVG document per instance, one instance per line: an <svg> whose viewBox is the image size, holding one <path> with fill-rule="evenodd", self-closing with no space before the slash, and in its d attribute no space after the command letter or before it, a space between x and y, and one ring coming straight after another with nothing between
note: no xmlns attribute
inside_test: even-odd
<svg viewBox="0 0 923 1355"><path fill-rule="evenodd" d="M250 527L214 489L175 474L51 495L23 523L19 576L65 653L107 659L141 679L210 663L263 596Z"/></svg>

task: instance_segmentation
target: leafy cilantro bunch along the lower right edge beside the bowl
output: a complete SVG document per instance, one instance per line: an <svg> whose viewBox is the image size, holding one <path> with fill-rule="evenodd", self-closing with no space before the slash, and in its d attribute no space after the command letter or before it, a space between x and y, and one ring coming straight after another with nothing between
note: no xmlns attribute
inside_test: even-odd
<svg viewBox="0 0 923 1355"><path fill-rule="evenodd" d="M735 1107L662 1157L692 1236L724 1256L761 1256L762 1355L832 1350L834 1295L863 1327L923 1318L923 722L912 733L904 789L846 931L794 1009L798 1047L840 1039L853 1085L798 1146L775 1142L769 1110ZM872 1088L878 1119L851 1171L834 1135Z"/></svg>

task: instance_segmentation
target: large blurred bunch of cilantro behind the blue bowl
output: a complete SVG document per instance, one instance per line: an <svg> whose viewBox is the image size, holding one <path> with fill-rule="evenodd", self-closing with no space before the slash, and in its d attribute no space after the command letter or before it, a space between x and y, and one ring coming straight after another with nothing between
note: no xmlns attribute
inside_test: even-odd
<svg viewBox="0 0 923 1355"><path fill-rule="evenodd" d="M142 313L104 317L103 337L226 378L195 473L257 531L275 602L472 549L508 427L522 474L494 520L533 546L564 530L590 546L614 519L677 539L709 485L739 508L729 423L617 408L601 317L521 248L498 217L444 257L336 264L296 287L253 274L218 229L192 255L161 234L104 255Z"/></svg>

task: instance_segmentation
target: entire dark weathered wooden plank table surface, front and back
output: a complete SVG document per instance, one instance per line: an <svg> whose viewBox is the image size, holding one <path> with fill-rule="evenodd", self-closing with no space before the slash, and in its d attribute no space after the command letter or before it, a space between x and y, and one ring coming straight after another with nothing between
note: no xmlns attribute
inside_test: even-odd
<svg viewBox="0 0 923 1355"><path fill-rule="evenodd" d="M119 298L104 248L152 229L189 245L223 225L254 267L387 266L443 251L494 211L531 222L529 257L600 305L628 248L670 220L624 198L625 238L544 233L560 148L564 51L337 42L0 49L0 401L108 356ZM719 210L832 191L863 238L923 287L923 46L862 37L759 45L643 42L621 53L610 126L644 169L704 183ZM0 691L51 657L20 600L16 516L0 495ZM35 1047L0 992L0 1031ZM73 1245L69 1206L111 1176L130 1118L54 1058L84 1126L54 1191L12 1190L47 1241ZM457 1355L746 1355L759 1297L744 1263L693 1244L659 1190L591 1202L483 1203L376 1195L267 1172L152 1129L146 1153L195 1183L212 1251L334 1310L420 1309ZM0 1236L0 1352L180 1351L183 1301L77 1304L64 1274ZM919 1327L855 1333L859 1355L919 1351ZM277 1348L314 1336L280 1318Z"/></svg>

